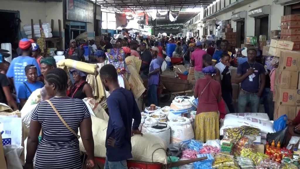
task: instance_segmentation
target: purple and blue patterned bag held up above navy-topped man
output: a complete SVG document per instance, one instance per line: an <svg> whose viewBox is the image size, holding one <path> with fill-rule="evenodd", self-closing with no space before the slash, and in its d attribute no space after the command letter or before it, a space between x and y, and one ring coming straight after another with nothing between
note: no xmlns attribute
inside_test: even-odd
<svg viewBox="0 0 300 169"><path fill-rule="evenodd" d="M115 66L119 75L129 72L125 63L125 53L122 48L107 49L106 56L108 61Z"/></svg>

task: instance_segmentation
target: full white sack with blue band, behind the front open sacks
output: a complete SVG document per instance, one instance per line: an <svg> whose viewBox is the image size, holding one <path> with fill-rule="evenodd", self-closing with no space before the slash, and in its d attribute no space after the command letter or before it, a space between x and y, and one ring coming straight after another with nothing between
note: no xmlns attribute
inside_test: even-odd
<svg viewBox="0 0 300 169"><path fill-rule="evenodd" d="M181 116L181 113L187 113L187 117L190 117L190 112L196 110L196 107L190 102L191 97L177 96L171 103L168 119L177 118Z"/></svg>

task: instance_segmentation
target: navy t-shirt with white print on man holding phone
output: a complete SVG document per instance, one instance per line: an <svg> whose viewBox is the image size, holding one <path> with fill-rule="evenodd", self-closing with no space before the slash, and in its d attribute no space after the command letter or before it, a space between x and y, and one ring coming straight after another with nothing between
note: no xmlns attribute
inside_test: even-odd
<svg viewBox="0 0 300 169"><path fill-rule="evenodd" d="M260 74L265 74L265 67L255 62L254 64L249 64L244 62L238 65L237 74L244 75L247 72L247 69L250 68L250 65L254 70L254 73L244 79L241 82L241 89L250 93L257 93L259 91L259 76Z"/></svg>

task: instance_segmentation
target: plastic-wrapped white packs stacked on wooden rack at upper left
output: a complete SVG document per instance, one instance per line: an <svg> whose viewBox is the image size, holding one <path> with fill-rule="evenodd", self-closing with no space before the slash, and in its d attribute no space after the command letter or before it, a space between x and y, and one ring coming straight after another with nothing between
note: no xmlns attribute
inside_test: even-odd
<svg viewBox="0 0 300 169"><path fill-rule="evenodd" d="M32 38L32 31L31 31L31 24L25 25L24 27L25 34L28 36L29 39ZM52 29L51 25L49 23L42 23L42 28L45 33L45 38L52 38ZM33 25L35 37L41 37L41 30L40 30L40 24L35 23Z"/></svg>

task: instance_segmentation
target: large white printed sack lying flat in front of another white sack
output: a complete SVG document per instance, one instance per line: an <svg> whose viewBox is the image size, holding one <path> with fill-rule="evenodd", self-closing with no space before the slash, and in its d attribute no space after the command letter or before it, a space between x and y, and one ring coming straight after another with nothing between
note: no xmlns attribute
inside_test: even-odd
<svg viewBox="0 0 300 169"><path fill-rule="evenodd" d="M262 133L274 133L273 123L271 121L259 120L257 118L242 117L236 115L226 115L224 118L224 126L240 127L250 126L258 128Z"/></svg>

